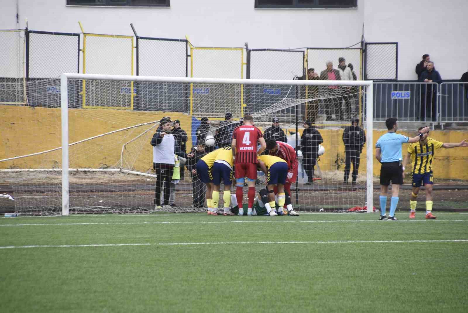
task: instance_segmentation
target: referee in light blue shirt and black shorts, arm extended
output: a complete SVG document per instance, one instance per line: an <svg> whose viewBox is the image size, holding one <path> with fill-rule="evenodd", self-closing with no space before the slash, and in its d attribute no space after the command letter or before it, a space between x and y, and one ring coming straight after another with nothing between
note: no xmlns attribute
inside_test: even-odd
<svg viewBox="0 0 468 313"><path fill-rule="evenodd" d="M402 167L402 143L418 142L424 133L429 131L429 127L421 129L416 137L409 138L402 134L396 134L396 120L395 118L388 118L385 121L388 132L380 136L375 144L375 158L382 164L380 167L380 221L386 221L386 206L388 185L392 181L392 200L390 202L390 214L388 219L396 221L395 210L398 205L398 193L400 192L400 185L403 185L403 171Z"/></svg>

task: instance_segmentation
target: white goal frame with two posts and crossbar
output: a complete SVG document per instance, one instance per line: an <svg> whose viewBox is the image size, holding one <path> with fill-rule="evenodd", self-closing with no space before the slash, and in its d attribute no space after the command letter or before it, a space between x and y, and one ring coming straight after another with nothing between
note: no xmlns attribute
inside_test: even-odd
<svg viewBox="0 0 468 313"><path fill-rule="evenodd" d="M306 98L296 98L296 97L291 97L290 96L290 90L294 87L304 87L304 86L315 86L318 88L324 88L325 86L340 86L340 87L349 87L349 86L362 86L365 89L364 95L365 95L365 103L366 103L366 205L367 205L367 212L373 212L373 124L372 124L372 116L373 116L373 104L372 104L372 99L373 99L373 82L372 81L318 81L318 80L312 80L312 81L299 81L299 80L259 80L259 79L216 79L216 78L187 78L187 77L154 77L154 76L130 76L130 75L96 75L96 74L75 74L75 73L65 73L62 74L60 77L60 94L61 94L61 99L60 99L60 106L61 106L61 148L62 148L62 162L61 162L61 167L62 167L62 186L61 186L61 192L62 192L62 210L61 213L62 215L66 216L70 214L70 190L69 190L69 184L70 184L70 179L69 179L69 157L70 157L70 152L69 152L69 102L71 99L69 99L69 95L72 94L69 90L69 86L75 86L76 84L70 84L70 80L86 80L87 82L93 82L93 81L100 81L100 82L109 82L109 85L111 85L112 88L105 84L97 84L96 89L94 91L95 97L106 97L107 100L109 101L116 101L114 98L116 96L111 95L111 89L116 89L116 86L118 86L118 82L132 82L139 84L140 88L138 89L139 92L143 92L142 89L144 89L145 96L147 95L153 95L157 93L161 93L164 97L162 102L165 102L166 104L173 101L171 100L171 90L170 86L177 86L174 88L177 88L178 90L174 90L174 92L183 92L183 90L188 90L186 87L180 87L180 86L185 86L185 85L190 85L190 86L202 86L202 88L199 88L197 90L198 94L198 100L200 103L203 103L205 100L206 105L210 105L211 103L208 101L209 99L209 93L210 93L210 88L214 88L213 86L222 86L224 85L234 85L234 89L239 88L239 89L244 89L245 87L251 87L252 89L255 88L257 92L257 98L255 101L260 103L257 107L251 107L249 108L249 104L247 103L246 110L247 113L251 114L254 116L254 118L258 118L259 120L263 121L265 125L269 122L268 119L271 119L271 116L274 116L275 114L291 114L291 111L293 107L295 107L294 113L297 116L297 107L300 104L304 104L310 99ZM112 85L112 83L115 83L115 85ZM151 85L151 84L161 84L160 85ZM79 84L78 84L79 86ZM100 94L99 88L101 86L102 94ZM106 87L107 86L107 87ZM277 93L281 94L281 88L286 86L285 89L289 88L289 91L287 91L286 96L283 97L281 96L278 98L278 101L276 102L269 102L269 96L271 93ZM273 87L273 88L271 88ZM78 87L79 88L79 87ZM88 88L88 87L87 87ZM94 87L90 87L94 88ZM225 88L227 94L227 97L235 97L236 92L233 92L233 88ZM180 90L179 90L180 89ZM124 91L122 91L124 90ZM181 91L182 90L182 91ZM127 90L124 89L123 87L120 90L120 93L122 94L123 92L126 92ZM234 90L235 91L235 90ZM133 92L130 90L130 92ZM193 92L193 90L190 89L190 92ZM214 93L214 92L213 92ZM76 94L76 92L75 92ZM222 94L222 89L218 90L216 92L217 97L219 97L219 94ZM139 97L137 94L136 97ZM159 96L158 96L159 97ZM320 99L327 97L327 95L321 94L319 97ZM336 97L336 95L334 96ZM118 98L118 97L117 97ZM317 99L319 99L317 98ZM102 98L104 99L104 98ZM100 100L102 100L100 99ZM74 99L76 100L76 99ZM213 115L215 113L223 112L225 111L225 108L222 106L222 100L223 99L216 99L216 104L219 105L217 107L212 107ZM227 101L227 100L225 100ZM254 101L254 100L252 100ZM340 100L341 101L341 100ZM245 102L245 101L244 101ZM76 103L76 101L72 101L72 103ZM176 103L176 102L174 102ZM214 102L213 102L214 103ZM181 104L183 105L183 104ZM341 105L341 102L340 102ZM177 112L176 107L167 107L167 110L169 112ZM122 108L117 108L117 109L122 109ZM89 108L88 110L94 110L93 108ZM166 110L166 109L165 109ZM115 110L108 110L108 111L115 111ZM167 111L166 111L167 112ZM192 117L192 120L195 117ZM292 119L291 119L292 120ZM238 123L237 120L234 119L233 123ZM298 123L298 120L296 118L295 121L296 125ZM345 125L343 125L345 126ZM146 130L145 130L146 131ZM334 133L337 133L334 131ZM338 141L340 138L337 134L334 134L335 141ZM298 142L298 137L297 134L295 135L296 137L296 143ZM145 137L146 138L146 137ZM146 142L146 144L149 144ZM122 148L123 149L123 148ZM73 166L73 165L72 165ZM132 169L130 169L132 170ZM127 170L128 171L128 170ZM152 175L154 176L154 175ZM297 193L297 191L296 191ZM293 198L293 195L291 195ZM364 203L363 203L364 204Z"/></svg>

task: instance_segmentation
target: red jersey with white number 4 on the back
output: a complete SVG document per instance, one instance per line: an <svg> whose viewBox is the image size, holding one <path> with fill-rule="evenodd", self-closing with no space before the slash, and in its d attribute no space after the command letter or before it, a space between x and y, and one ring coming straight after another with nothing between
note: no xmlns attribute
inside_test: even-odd
<svg viewBox="0 0 468 313"><path fill-rule="evenodd" d="M234 163L257 163L257 142L263 138L262 131L253 125L236 127L233 139L236 140Z"/></svg>

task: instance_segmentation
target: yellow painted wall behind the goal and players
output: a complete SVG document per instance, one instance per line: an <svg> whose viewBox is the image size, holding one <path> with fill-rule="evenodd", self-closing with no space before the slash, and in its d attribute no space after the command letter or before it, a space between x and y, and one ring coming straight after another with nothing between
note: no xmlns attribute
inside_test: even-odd
<svg viewBox="0 0 468 313"><path fill-rule="evenodd" d="M190 115L174 112L138 112L110 109L73 109L69 111L69 141L77 142L98 134L107 133L139 123L151 122L169 115L171 119L180 119L182 128L191 138ZM153 125L153 124L152 124ZM145 125L120 131L70 147L71 168L106 168L120 166L122 145L143 133L152 125ZM153 147L151 137L156 128L127 145L124 159L138 171L151 171ZM294 131L290 128L288 130ZM299 129L302 134L303 128ZM325 155L320 158L322 171L343 170L344 145L343 129L320 129L323 137ZM373 131L373 154L375 142L385 131ZM412 136L409 132L399 132ZM32 108L27 106L0 105L0 159L22 156L61 146L61 127L59 108ZM461 142L468 139L468 131L431 131L430 136L441 142ZM366 143L367 145L368 143ZM360 172L364 173L366 145L361 155ZM403 144L403 153L408 145ZM191 148L191 140L187 142ZM404 155L403 155L404 156ZM375 157L375 156L373 156ZM0 162L0 169L6 168L59 168L61 167L61 150L47 154L25 157ZM433 170L435 178L468 179L468 148L439 149L436 151ZM124 167L126 164L124 164ZM378 176L380 164L375 160L373 173Z"/></svg>

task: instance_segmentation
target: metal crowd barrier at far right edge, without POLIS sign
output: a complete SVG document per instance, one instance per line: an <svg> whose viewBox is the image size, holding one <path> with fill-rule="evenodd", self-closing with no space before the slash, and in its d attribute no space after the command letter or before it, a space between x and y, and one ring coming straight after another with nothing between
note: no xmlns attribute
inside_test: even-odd
<svg viewBox="0 0 468 313"><path fill-rule="evenodd" d="M440 122L468 121L468 83L443 82L440 84L439 112Z"/></svg>

